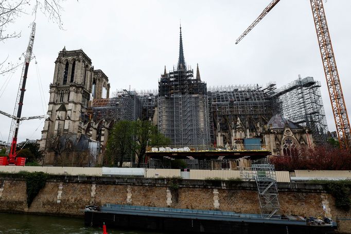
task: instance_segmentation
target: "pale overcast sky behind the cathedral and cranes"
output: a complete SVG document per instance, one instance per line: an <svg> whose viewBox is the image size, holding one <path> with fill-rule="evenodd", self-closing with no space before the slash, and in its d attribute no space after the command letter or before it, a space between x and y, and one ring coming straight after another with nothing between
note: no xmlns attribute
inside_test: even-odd
<svg viewBox="0 0 351 234"><path fill-rule="evenodd" d="M322 97L329 131L335 131L330 100L317 43L310 1L282 0L238 45L235 40L256 19L270 0L228 1L67 1L62 4L64 30L37 16L33 60L29 65L22 116L46 113L49 84L58 52L83 49L95 69L109 77L111 92L129 88L157 89L163 73L177 64L179 22L182 22L184 56L208 86L228 84L281 87L298 75L322 83ZM324 2L346 106L351 108L351 1ZM9 30L22 31L19 39L0 44L0 60L16 62L26 50L33 17L24 15ZM38 71L39 72L38 72ZM13 112L22 68L11 78L0 110ZM38 77L44 88L44 110ZM0 87L6 76L0 76ZM351 111L349 111L350 113ZM0 140L7 141L10 119L0 116ZM40 139L42 120L21 124L19 141Z"/></svg>

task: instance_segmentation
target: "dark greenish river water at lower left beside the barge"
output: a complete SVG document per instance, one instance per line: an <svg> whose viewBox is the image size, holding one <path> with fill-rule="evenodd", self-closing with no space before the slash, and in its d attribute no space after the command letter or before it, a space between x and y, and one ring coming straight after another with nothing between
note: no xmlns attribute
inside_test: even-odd
<svg viewBox="0 0 351 234"><path fill-rule="evenodd" d="M152 234L154 232L118 230L107 227L109 234ZM0 234L102 234L101 228L86 227L83 218L34 214L0 213ZM160 232L159 232L160 234Z"/></svg>

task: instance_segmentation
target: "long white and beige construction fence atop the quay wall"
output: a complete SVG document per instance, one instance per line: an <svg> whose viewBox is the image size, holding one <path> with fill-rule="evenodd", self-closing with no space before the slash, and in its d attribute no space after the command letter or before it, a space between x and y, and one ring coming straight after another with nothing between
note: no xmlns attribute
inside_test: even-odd
<svg viewBox="0 0 351 234"><path fill-rule="evenodd" d="M145 168L94 168L94 167L19 167L0 166L0 173L44 172L54 175L85 175L85 176L140 176L146 178L183 177L186 179L247 179L252 171L239 170L186 170L180 169L145 169ZM312 171L295 170L276 171L277 182L299 181L338 181L351 179L351 171Z"/></svg>

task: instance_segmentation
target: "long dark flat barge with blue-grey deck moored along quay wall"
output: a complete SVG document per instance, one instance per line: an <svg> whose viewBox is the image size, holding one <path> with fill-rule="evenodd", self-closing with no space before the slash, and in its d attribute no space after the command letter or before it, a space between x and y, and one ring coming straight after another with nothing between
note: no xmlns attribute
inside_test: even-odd
<svg viewBox="0 0 351 234"><path fill-rule="evenodd" d="M336 233L336 223L299 216L264 219L260 214L106 204L87 206L85 225L185 233ZM319 220L320 221L320 220Z"/></svg>

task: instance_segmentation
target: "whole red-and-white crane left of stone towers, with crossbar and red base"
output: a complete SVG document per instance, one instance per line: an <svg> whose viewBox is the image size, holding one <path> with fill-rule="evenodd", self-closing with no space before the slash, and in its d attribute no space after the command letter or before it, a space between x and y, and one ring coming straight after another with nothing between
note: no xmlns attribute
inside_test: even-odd
<svg viewBox="0 0 351 234"><path fill-rule="evenodd" d="M16 158L17 135L18 135L19 127L20 127L20 122L21 122L21 120L24 120L24 119L33 119L33 118L39 117L39 116L34 116L34 117L28 117L28 118L21 118L24 92L26 91L28 67L29 67L31 57L32 57L34 35L35 34L36 34L36 23L33 23L32 30L31 30L30 37L29 37L29 43L27 46L26 53L24 55L25 63L24 63L23 70L22 70L20 89L19 89L19 92L17 93L17 99L16 99L14 113L13 113L13 115L10 115L10 114L7 114L7 113L2 112L2 111L0 112L0 114L3 114L5 116L12 118L10 135L12 135L11 132L13 132L13 137L12 137L11 148L10 148L8 160L7 160L7 158L2 160L2 164L5 164L5 165L24 166L25 158L23 158L23 157ZM15 111L17 111L16 116L14 116Z"/></svg>

